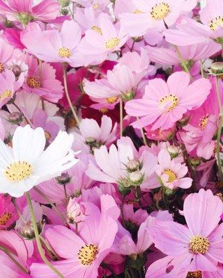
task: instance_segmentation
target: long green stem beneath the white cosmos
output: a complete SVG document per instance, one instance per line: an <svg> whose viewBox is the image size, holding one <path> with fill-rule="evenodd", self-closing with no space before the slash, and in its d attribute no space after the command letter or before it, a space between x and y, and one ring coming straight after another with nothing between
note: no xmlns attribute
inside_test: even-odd
<svg viewBox="0 0 223 278"><path fill-rule="evenodd" d="M45 256L45 252L44 252L43 247L41 245L40 236L39 236L39 233L38 233L38 227L37 227L37 224L36 224L36 217L35 217L35 214L34 214L34 211L33 211L33 205L32 205L32 202L31 202L31 197L29 195L29 192L26 192L26 199L27 199L27 202L28 202L28 205L29 205L29 211L30 211L30 214L31 214L31 221L32 221L32 224L33 224L33 229L34 229L34 233L35 233L35 237L36 237L36 244L37 244L40 256L43 259L43 261L45 262L45 264L48 265L49 268L53 272L55 272L58 277L64 278L63 275L61 275L61 272L59 272L59 270L54 268L54 265L52 265L47 260L47 258Z"/></svg>

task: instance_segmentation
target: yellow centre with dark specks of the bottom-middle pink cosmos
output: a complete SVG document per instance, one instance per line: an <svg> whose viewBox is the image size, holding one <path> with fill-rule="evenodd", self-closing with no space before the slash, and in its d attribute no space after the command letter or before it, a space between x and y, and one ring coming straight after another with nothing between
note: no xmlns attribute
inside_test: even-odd
<svg viewBox="0 0 223 278"><path fill-rule="evenodd" d="M86 244L77 253L79 262L82 265L91 265L98 254L98 246L94 244Z"/></svg>

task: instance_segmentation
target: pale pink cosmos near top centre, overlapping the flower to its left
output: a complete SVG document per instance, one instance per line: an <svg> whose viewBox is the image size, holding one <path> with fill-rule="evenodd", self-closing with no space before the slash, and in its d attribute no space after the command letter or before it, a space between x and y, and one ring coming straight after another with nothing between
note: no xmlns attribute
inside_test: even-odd
<svg viewBox="0 0 223 278"><path fill-rule="evenodd" d="M111 20L100 17L98 31L88 30L78 50L84 56L84 65L98 65L107 59L107 55L120 50L128 39L116 29Z"/></svg>

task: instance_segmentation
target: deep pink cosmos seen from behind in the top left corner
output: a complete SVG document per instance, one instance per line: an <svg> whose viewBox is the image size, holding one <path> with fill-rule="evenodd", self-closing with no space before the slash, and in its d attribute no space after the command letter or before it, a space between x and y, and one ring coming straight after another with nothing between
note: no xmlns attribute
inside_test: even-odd
<svg viewBox="0 0 223 278"><path fill-rule="evenodd" d="M55 19L59 15L59 3L56 0L43 0L33 6L32 0L9 0L8 4L0 0L0 14L10 21L27 24L31 19L43 22Z"/></svg>

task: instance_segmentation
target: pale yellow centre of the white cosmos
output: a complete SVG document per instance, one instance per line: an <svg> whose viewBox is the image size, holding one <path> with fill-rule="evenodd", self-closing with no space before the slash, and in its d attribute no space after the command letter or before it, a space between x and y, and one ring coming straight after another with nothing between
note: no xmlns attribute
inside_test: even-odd
<svg viewBox="0 0 223 278"><path fill-rule="evenodd" d="M9 181L22 181L33 172L33 166L25 161L11 163L6 168L4 174Z"/></svg>

